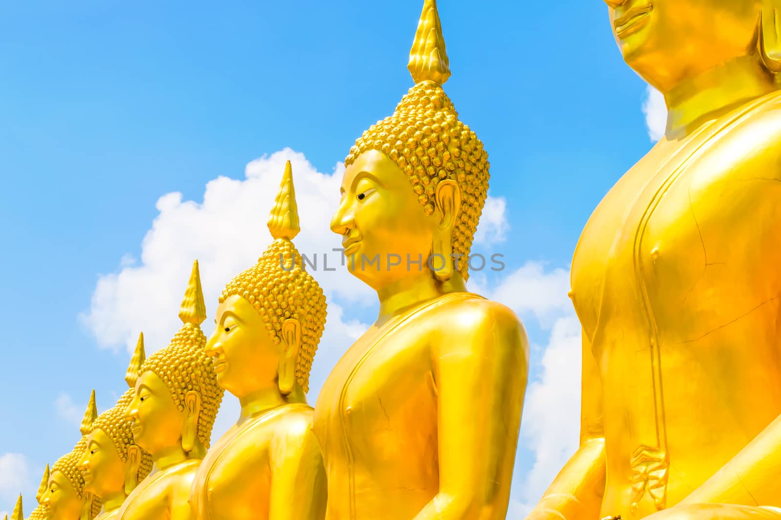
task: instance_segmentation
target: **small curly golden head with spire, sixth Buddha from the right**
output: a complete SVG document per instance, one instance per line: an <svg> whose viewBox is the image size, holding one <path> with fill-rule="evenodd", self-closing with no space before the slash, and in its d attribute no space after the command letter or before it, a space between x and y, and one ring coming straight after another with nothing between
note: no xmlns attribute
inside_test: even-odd
<svg viewBox="0 0 781 520"><path fill-rule="evenodd" d="M92 520L101 510L100 499L84 489L84 476L78 468L79 459L87 447L87 435L97 417L93 390L81 421L81 439L70 453L62 455L52 465L43 493L41 489L38 490L41 512L45 513L48 520Z"/></svg>

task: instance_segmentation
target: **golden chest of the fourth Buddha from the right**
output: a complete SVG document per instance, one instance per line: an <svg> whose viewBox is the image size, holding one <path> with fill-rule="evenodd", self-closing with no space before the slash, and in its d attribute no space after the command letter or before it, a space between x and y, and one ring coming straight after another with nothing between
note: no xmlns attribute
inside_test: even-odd
<svg viewBox="0 0 781 520"><path fill-rule="evenodd" d="M122 520L166 520L185 516L190 488L200 460L189 460L168 469L152 473L128 495L119 516ZM177 515L172 515L177 510ZM186 515L186 518L192 518Z"/></svg>

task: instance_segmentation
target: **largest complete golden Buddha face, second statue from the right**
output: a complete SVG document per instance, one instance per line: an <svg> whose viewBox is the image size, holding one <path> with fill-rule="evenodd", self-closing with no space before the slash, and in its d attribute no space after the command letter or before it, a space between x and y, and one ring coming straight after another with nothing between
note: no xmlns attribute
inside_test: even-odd
<svg viewBox="0 0 781 520"><path fill-rule="evenodd" d="M418 272L419 264L412 262L422 259L420 270L430 271L432 243L437 237L451 240L458 207L440 203L445 186L458 191L455 182L440 182L437 210L426 214L395 161L379 150L358 155L344 171L341 203L331 220L331 230L342 235L351 274L379 291ZM432 267L439 268L436 262Z"/></svg>

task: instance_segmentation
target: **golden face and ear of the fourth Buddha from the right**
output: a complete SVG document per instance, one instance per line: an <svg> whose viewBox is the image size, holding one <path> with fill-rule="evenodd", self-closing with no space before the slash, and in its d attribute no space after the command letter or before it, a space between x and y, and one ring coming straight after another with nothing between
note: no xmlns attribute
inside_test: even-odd
<svg viewBox="0 0 781 520"><path fill-rule="evenodd" d="M125 416L133 423L135 443L155 455L169 447L191 447L199 411L200 396L196 392L187 392L180 410L163 380L147 370L136 381Z"/></svg>

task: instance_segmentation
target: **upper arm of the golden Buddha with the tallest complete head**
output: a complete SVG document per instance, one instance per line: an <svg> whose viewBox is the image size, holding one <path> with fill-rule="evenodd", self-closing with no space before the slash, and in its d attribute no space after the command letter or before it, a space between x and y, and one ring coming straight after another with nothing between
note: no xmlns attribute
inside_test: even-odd
<svg viewBox="0 0 781 520"><path fill-rule="evenodd" d="M448 316L432 349L439 490L415 520L505 518L529 346L511 310L480 300Z"/></svg>

